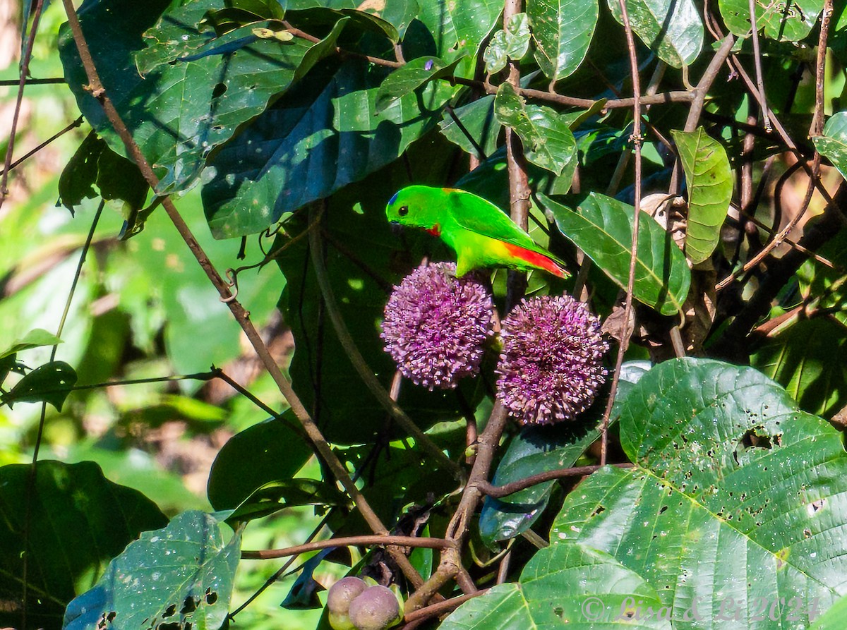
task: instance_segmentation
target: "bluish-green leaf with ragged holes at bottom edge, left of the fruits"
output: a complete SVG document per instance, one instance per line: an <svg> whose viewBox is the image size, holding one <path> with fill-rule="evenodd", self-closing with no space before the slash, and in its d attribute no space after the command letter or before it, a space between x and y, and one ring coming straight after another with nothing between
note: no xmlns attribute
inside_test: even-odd
<svg viewBox="0 0 847 630"><path fill-rule="evenodd" d="M164 623L217 630L226 620L240 556L240 533L224 543L213 516L182 512L111 561L97 585L70 602L63 630Z"/></svg>

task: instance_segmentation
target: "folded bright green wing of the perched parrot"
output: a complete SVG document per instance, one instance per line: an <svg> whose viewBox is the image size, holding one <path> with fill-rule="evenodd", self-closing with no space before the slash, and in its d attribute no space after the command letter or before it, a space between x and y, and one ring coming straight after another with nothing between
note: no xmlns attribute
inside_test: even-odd
<svg viewBox="0 0 847 630"><path fill-rule="evenodd" d="M497 240L504 240L529 251L537 251L564 264L544 247L536 244L529 234L518 228L506 213L487 199L458 189L445 189L445 192L447 207L459 227Z"/></svg>

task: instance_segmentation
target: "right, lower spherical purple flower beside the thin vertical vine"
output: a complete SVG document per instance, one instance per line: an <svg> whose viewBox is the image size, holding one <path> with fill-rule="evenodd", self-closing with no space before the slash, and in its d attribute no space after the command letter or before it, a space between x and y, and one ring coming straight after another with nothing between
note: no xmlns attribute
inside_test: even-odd
<svg viewBox="0 0 847 630"><path fill-rule="evenodd" d="M606 378L600 321L571 296L523 300L503 320L497 399L521 424L573 420Z"/></svg>

